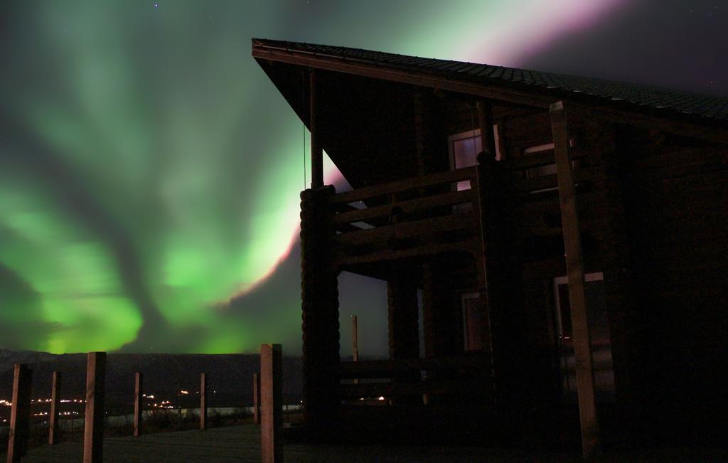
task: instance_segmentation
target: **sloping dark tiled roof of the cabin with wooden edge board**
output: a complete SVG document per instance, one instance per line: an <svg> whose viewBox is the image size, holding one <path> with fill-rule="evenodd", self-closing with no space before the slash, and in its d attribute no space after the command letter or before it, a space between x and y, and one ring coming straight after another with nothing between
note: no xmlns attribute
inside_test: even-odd
<svg viewBox="0 0 728 463"><path fill-rule="evenodd" d="M256 58L274 60L276 57L281 58L281 55L269 55L270 52L282 52L290 58L298 57L309 61L324 60L349 65L376 66L382 71L405 71L408 74L436 76L448 81L485 84L488 87L504 87L521 92L531 93L535 90L556 98L575 98L585 95L600 100L600 103L613 104L622 109L649 111L651 114L657 112L663 116L688 117L693 121L728 120L728 98L648 85L488 64L420 58L357 48L253 39L253 55Z"/></svg>

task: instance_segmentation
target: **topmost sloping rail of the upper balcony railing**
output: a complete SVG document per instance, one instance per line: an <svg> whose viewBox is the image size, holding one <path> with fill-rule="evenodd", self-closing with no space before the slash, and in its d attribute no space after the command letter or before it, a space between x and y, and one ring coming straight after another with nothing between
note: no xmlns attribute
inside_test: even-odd
<svg viewBox="0 0 728 463"><path fill-rule="evenodd" d="M423 175L422 177L410 177L394 182L381 183L379 185L364 186L363 188L357 188L352 191L344 191L343 193L335 194L331 198L331 203L357 202L372 197L384 196L385 194L400 193L401 191L439 185L440 183L455 183L470 180L471 178L475 178L475 167L446 170Z"/></svg>

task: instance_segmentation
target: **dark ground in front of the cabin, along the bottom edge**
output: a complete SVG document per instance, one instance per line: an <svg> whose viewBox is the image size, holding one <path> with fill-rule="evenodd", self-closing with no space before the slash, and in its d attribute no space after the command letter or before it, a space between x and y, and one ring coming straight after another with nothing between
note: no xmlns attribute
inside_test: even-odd
<svg viewBox="0 0 728 463"><path fill-rule="evenodd" d="M81 443L33 448L23 462L80 462ZM105 462L260 462L260 428L253 424L207 431L161 432L104 440ZM4 455L0 456L4 460ZM503 448L332 446L288 443L285 462L579 462L578 454L543 454ZM604 462L725 462L716 449L660 449L610 454Z"/></svg>

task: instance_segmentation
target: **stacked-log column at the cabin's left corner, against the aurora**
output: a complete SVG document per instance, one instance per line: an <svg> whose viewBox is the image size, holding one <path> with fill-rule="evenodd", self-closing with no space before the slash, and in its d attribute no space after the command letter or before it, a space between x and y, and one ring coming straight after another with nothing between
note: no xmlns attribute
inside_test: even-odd
<svg viewBox="0 0 728 463"><path fill-rule="evenodd" d="M301 192L304 416L323 432L335 429L339 405L339 288L329 205L333 194L333 186Z"/></svg>

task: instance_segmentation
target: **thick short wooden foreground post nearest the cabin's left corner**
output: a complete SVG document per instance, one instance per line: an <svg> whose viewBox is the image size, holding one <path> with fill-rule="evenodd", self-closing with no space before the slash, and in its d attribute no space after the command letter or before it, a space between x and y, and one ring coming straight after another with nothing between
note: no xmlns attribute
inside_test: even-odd
<svg viewBox="0 0 728 463"><path fill-rule="evenodd" d="M261 344L261 462L283 461L283 351L280 344Z"/></svg>

